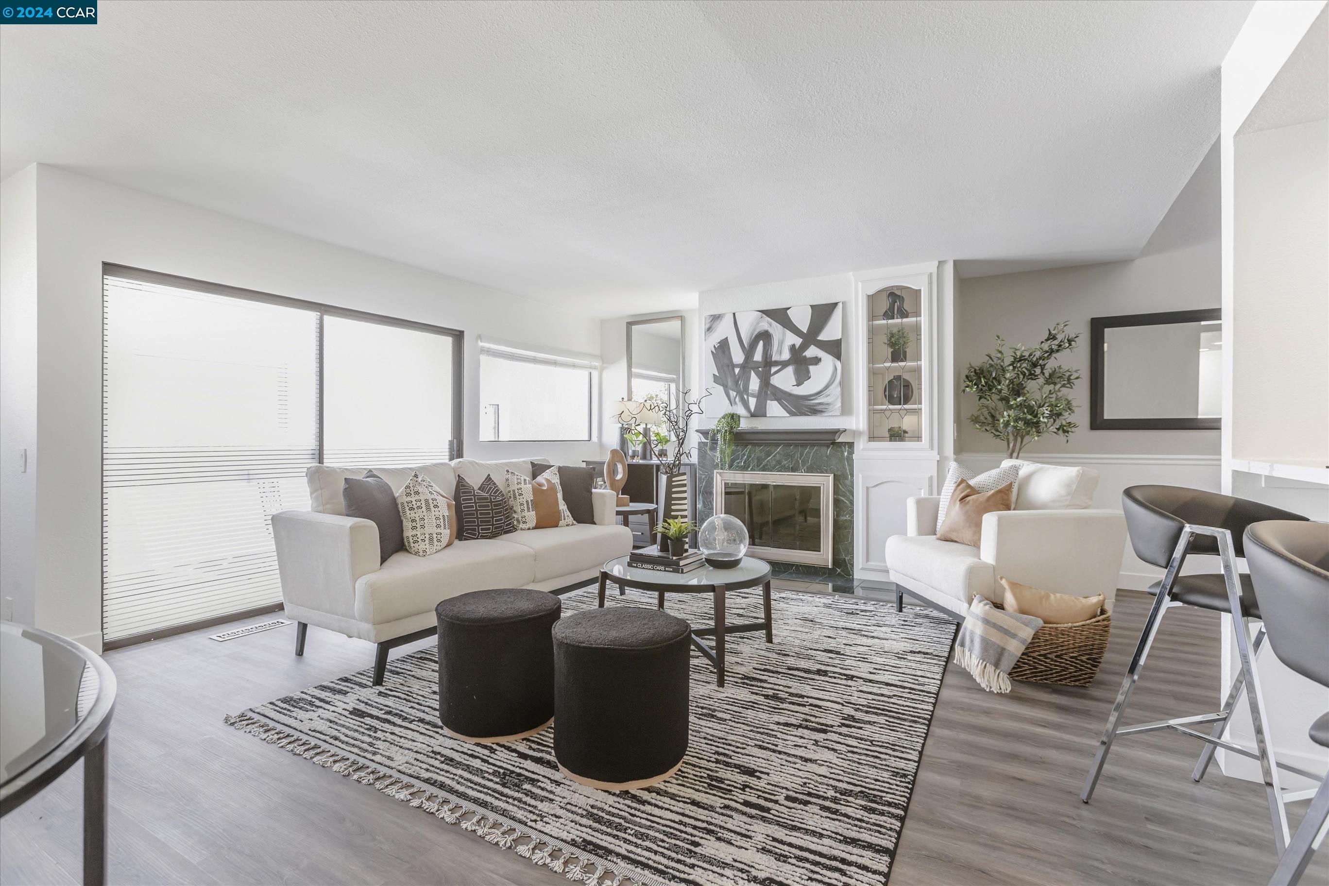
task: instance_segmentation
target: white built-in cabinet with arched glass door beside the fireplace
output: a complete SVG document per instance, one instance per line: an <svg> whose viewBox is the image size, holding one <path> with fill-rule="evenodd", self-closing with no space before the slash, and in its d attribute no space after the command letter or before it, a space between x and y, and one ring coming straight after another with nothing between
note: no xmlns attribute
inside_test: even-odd
<svg viewBox="0 0 1329 886"><path fill-rule="evenodd" d="M953 438L953 270L914 264L855 274L849 335L859 336L863 416L855 441L855 574L889 580L886 539L905 531L905 502L941 487ZM945 445L944 445L945 444Z"/></svg>

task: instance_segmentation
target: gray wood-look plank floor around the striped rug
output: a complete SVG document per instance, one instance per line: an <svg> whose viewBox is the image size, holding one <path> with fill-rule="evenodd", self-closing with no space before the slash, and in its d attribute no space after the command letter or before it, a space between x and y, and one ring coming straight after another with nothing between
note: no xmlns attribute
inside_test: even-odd
<svg viewBox="0 0 1329 886"><path fill-rule="evenodd" d="M893 886L1267 882L1276 859L1263 786L1217 766L1192 782L1200 745L1184 736L1120 740L1094 802L1079 801L1147 604L1122 594L1107 659L1087 689L1017 684L997 696L948 668ZM311 628L298 659L294 627L227 643L207 638L218 630L106 655L120 681L112 883L565 882L222 724L226 713L368 667L369 644ZM1217 667L1217 616L1170 611L1128 720L1212 709ZM74 766L0 820L0 885L78 882L81 780ZM1302 882L1329 883L1329 850Z"/></svg>

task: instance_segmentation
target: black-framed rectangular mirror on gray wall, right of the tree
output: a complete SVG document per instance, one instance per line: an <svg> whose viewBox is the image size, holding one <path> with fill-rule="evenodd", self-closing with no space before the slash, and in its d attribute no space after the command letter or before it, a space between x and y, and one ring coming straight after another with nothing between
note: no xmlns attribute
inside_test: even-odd
<svg viewBox="0 0 1329 886"><path fill-rule="evenodd" d="M1223 312L1091 317L1091 430L1216 430L1223 416Z"/></svg>

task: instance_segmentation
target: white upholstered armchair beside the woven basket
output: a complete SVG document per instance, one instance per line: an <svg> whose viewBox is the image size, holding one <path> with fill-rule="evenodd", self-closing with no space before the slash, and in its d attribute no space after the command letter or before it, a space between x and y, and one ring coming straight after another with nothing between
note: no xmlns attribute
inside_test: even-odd
<svg viewBox="0 0 1329 886"><path fill-rule="evenodd" d="M974 595L1001 602L1001 576L1045 591L1107 598L1112 608L1126 549L1116 510L1007 510L983 515L981 547L937 539L936 495L906 503L906 535L886 539L890 580L964 618Z"/></svg>

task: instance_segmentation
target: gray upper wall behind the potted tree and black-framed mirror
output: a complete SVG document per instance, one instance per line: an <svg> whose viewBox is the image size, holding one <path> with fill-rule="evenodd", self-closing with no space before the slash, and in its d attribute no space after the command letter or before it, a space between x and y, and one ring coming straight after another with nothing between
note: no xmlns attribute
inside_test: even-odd
<svg viewBox="0 0 1329 886"><path fill-rule="evenodd" d="M1025 453L1219 454L1217 430L1090 430L1088 321L1095 316L1216 308L1220 304L1219 150L1215 145L1177 194L1140 258L962 279L956 320L956 384L995 345L1034 344L1061 320L1079 332L1062 364L1082 373L1073 397L1080 428L1070 442L1043 437ZM969 422L978 401L960 393L957 452L1003 452Z"/></svg>

